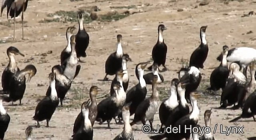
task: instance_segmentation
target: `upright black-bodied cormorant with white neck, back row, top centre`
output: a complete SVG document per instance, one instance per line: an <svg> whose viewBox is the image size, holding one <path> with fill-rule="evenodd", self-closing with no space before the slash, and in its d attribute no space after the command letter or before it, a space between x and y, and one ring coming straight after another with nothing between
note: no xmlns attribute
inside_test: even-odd
<svg viewBox="0 0 256 140"><path fill-rule="evenodd" d="M123 57L123 48L122 48L122 35L118 34L117 38L117 49L116 52L113 52L108 56L108 59L105 63L105 73L103 81L107 81L108 75L114 75L118 70L122 68L122 57Z"/></svg>

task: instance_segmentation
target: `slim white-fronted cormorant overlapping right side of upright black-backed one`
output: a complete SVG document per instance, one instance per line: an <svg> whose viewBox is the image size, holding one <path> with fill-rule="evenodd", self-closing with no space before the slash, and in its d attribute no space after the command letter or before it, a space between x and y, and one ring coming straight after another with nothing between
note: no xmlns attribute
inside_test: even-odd
<svg viewBox="0 0 256 140"><path fill-rule="evenodd" d="M123 73L124 73L123 80L122 80L123 81L122 86L124 87L125 92L128 88L128 84L129 84L129 75L128 75L128 70L127 70L127 62L128 61L132 61L132 59L130 58L130 56L128 54L124 54L123 57L122 57L122 70L123 70ZM115 78L112 80L112 83L111 83L110 96L113 96L113 94L115 94L114 89L113 89L113 84L116 81L120 82L120 80L117 80L117 79L118 79L118 75L116 74Z"/></svg>

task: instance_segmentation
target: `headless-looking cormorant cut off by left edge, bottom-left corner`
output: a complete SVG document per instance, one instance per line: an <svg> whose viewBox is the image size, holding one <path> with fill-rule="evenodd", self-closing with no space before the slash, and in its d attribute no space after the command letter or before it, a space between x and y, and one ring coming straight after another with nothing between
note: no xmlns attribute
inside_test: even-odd
<svg viewBox="0 0 256 140"><path fill-rule="evenodd" d="M6 110L4 109L2 98L0 97L0 140L4 140L4 134L9 126L10 123L10 116L7 114Z"/></svg>

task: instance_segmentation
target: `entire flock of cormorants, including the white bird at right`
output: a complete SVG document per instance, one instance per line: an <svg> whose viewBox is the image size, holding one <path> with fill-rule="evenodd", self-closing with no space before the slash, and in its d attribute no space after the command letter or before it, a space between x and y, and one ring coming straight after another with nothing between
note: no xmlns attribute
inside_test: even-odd
<svg viewBox="0 0 256 140"><path fill-rule="evenodd" d="M89 44L89 35L83 26L83 13L78 12L79 30L75 35L75 26L70 26L66 30L66 39L68 44L61 52L61 65L52 67L52 72L49 74L49 87L46 96L40 100L35 108L33 119L37 121L37 126L40 127L39 122L46 120L49 127L49 122L52 114L59 104L63 106L63 100L66 93L70 89L72 81L80 72L80 64L82 62L80 57L86 57L86 48ZM117 35L117 50L110 54L106 60L104 81L108 80L108 75L116 75L112 80L110 87L110 96L96 102L96 95L101 90L98 86L90 88L90 99L82 103L81 112L78 114L73 128L73 140L92 140L93 126L97 121L99 124L107 122L108 128L112 118L116 124L124 124L124 130L121 134L116 136L114 140L134 140L132 134L132 126L142 122L146 124L149 121L151 129L153 129L152 122L154 115L159 112L161 122L161 131L163 133L150 136L152 140L161 140L167 138L168 140L182 140L190 139L190 132L185 132L185 126L201 127L198 125L199 113L198 108L198 92L196 91L202 75L200 68L204 68L204 61L208 55L208 44L206 42L206 28L200 28L201 44L194 50L190 57L189 66L181 68L178 72L177 78L171 80L169 98L160 103L159 92L157 85L164 81L164 78L159 74L158 67L164 67L162 71L168 70L166 67L166 53L167 46L164 42L163 32L167 28L160 24L158 26L158 41L152 50L153 63L148 67L149 72L144 74L147 65L151 63L140 62L136 65L136 77L138 84L134 85L128 90L129 74L127 70L127 63L132 61L128 54L124 54L122 50L122 35ZM26 89L26 75L28 75L27 82L36 74L36 67L34 65L27 65L23 70L20 70L15 62L15 55L22 55L16 47L9 47L7 55L10 60L8 66L2 73L2 96L0 97L0 140L4 139L5 132L10 122L10 116L3 107L4 102L16 102L23 98ZM209 93L214 94L217 90L222 89L220 108L227 108L233 106L233 109L242 108L242 114L237 118L230 120L234 122L240 118L250 118L256 114L256 80L255 80L255 63L256 50L249 47L238 47L229 50L228 46L223 46L222 53L217 60L220 65L212 71L210 76ZM228 66L227 62L231 62ZM247 68L250 68L250 80L247 80ZM244 72L240 70L244 68ZM152 95L146 98L147 88L146 84L152 85ZM189 103L192 110L189 109ZM210 126L210 116L212 109L205 110L204 120L205 125ZM134 114L134 119L130 122L130 116ZM118 119L118 121L116 120ZM256 119L254 118L254 121ZM180 133L168 133L164 131L168 126L180 126ZM165 126L165 127L164 127ZM26 138L31 140L32 127L26 129ZM194 140L214 140L212 132L203 134L192 134ZM136 138L135 138L136 139Z"/></svg>

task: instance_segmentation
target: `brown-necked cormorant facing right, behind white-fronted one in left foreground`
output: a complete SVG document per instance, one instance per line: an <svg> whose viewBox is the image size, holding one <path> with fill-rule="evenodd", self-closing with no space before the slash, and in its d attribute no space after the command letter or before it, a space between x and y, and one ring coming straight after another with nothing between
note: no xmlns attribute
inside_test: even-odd
<svg viewBox="0 0 256 140"><path fill-rule="evenodd" d="M98 114L96 95L98 94L98 92L100 90L101 89L98 88L98 86L92 86L90 88L90 99L88 99L88 100L90 100L91 103L88 108L89 108L89 119L91 121L92 126L94 125L94 122L95 122L97 114ZM76 117L76 120L74 122L73 134L75 134L79 130L81 125L84 124L83 121L84 121L84 119L83 119L83 115L82 115L82 111L81 111L78 114L78 116Z"/></svg>

